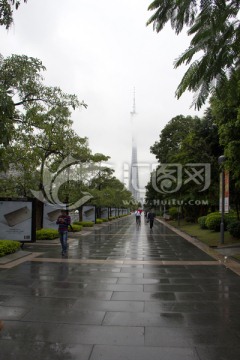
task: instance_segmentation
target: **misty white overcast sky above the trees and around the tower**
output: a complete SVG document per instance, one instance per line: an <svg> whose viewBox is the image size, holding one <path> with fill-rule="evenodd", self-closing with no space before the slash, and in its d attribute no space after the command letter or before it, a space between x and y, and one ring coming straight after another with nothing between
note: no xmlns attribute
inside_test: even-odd
<svg viewBox="0 0 240 360"><path fill-rule="evenodd" d="M9 31L0 28L0 52L36 57L47 68L45 84L76 94L88 109L73 113L74 129L89 139L93 153L111 157L115 175L130 166L130 112L135 88L134 138L141 165L140 185L156 164L150 146L177 115L190 109L193 94L175 98L186 68L173 68L189 38L169 27L146 27L152 0L28 0L14 14ZM125 172L125 175L127 173Z"/></svg>

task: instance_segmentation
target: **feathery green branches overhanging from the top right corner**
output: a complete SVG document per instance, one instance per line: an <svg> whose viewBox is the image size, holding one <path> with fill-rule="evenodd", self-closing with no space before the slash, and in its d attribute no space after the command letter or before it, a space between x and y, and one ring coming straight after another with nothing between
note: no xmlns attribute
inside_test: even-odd
<svg viewBox="0 0 240 360"><path fill-rule="evenodd" d="M239 67L239 5L239 0L155 0L148 8L155 12L147 25L153 24L157 32L168 22L176 34L184 26L189 28L190 45L175 61L175 67L190 66L176 96L193 91L193 105L198 109Z"/></svg>

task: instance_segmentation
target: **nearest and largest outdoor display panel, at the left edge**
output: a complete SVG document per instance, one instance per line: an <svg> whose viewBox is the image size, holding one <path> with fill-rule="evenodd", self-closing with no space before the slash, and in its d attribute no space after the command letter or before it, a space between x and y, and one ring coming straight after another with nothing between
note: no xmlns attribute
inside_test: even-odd
<svg viewBox="0 0 240 360"><path fill-rule="evenodd" d="M35 216L33 200L0 199L0 239L35 241Z"/></svg>

